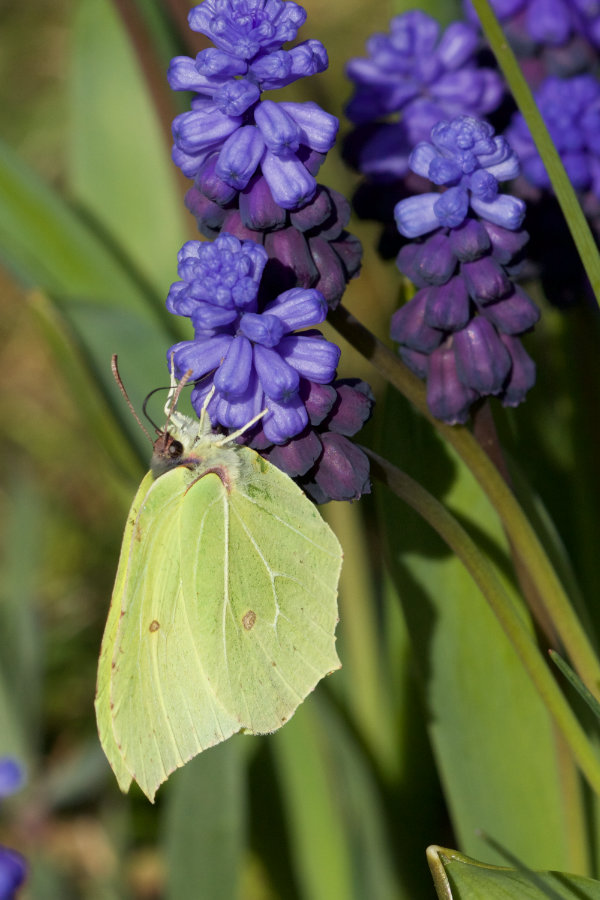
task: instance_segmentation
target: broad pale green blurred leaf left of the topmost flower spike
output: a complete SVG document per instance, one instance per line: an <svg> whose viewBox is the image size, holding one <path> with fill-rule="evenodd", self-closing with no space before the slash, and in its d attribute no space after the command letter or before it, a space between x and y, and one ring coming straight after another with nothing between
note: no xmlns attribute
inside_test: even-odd
<svg viewBox="0 0 600 900"><path fill-rule="evenodd" d="M166 63L156 60L156 66L165 71L168 92ZM191 231L193 220L183 205L170 143L109 0L77 8L69 86L71 192L166 296L184 222Z"/></svg>

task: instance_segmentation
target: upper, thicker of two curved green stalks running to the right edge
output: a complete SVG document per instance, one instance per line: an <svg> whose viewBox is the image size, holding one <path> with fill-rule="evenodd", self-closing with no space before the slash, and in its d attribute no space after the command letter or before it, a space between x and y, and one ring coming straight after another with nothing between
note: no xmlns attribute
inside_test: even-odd
<svg viewBox="0 0 600 900"><path fill-rule="evenodd" d="M496 466L470 431L461 425L445 425L431 415L423 383L348 310L339 306L329 313L328 320L413 403L467 464L498 513L513 547L517 548L574 668L592 694L600 698L600 662L594 648L527 516Z"/></svg>

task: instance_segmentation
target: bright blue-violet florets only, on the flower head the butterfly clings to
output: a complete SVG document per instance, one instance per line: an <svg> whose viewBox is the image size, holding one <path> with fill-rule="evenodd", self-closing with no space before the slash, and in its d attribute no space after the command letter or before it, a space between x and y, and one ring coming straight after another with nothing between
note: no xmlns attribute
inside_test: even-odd
<svg viewBox="0 0 600 900"><path fill-rule="evenodd" d="M317 334L294 334L321 323L327 303L320 291L292 288L259 311L263 247L221 234L213 244L189 241L179 254L182 281L171 287L168 308L191 318L194 340L168 353L179 376L203 379L192 394L200 414L208 389L213 424L240 428L267 409L262 428L279 444L308 422L299 396L302 379L328 384L340 350ZM207 376L207 377L205 377Z"/></svg>

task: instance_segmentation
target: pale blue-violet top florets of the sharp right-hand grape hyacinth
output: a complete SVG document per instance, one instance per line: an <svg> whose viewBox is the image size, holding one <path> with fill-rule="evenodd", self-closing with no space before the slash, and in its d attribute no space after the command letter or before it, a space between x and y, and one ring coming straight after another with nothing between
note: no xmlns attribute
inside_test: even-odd
<svg viewBox="0 0 600 900"><path fill-rule="evenodd" d="M494 137L488 122L472 116L438 122L431 130L431 142L417 144L408 164L417 175L446 190L396 204L396 225L404 237L419 237L440 227L457 228L466 220L469 206L495 225L511 231L521 226L523 201L498 196L498 182L515 178L519 162L507 141Z"/></svg>

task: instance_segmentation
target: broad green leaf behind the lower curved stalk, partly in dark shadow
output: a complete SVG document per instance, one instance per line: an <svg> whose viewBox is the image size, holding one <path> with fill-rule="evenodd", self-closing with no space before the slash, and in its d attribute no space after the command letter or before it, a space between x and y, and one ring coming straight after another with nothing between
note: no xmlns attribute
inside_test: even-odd
<svg viewBox="0 0 600 900"><path fill-rule="evenodd" d="M470 472L397 395L389 398L383 427L382 455L449 506L522 608L496 514ZM389 495L382 513L433 751L461 847L499 861L477 836L484 829L532 867L585 869L572 764L564 754L559 763L550 718L500 625L429 526Z"/></svg>

